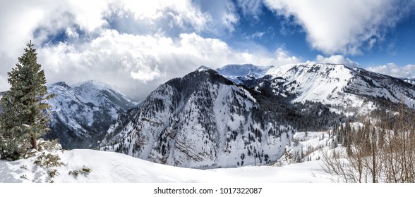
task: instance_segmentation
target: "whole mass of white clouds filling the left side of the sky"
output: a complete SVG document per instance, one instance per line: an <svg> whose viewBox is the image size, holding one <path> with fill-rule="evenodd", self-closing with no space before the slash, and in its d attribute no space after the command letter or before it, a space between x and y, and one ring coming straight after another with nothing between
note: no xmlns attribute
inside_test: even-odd
<svg viewBox="0 0 415 197"><path fill-rule="evenodd" d="M200 65L300 62L283 49L233 49L221 39L203 37L233 30L238 16L231 1L215 1L211 10L190 0L172 2L6 3L0 7L0 91L8 89L6 72L30 39L49 83L97 80L136 99Z"/></svg>

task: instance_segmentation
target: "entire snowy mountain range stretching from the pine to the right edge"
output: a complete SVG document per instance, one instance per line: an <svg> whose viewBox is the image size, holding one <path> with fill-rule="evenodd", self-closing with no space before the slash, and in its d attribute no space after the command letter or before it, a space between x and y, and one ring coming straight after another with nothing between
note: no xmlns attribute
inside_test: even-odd
<svg viewBox="0 0 415 197"><path fill-rule="evenodd" d="M201 66L140 103L99 82L48 85L47 139L180 167L267 165L297 132L325 131L399 102L415 85L362 68L303 63Z"/></svg>

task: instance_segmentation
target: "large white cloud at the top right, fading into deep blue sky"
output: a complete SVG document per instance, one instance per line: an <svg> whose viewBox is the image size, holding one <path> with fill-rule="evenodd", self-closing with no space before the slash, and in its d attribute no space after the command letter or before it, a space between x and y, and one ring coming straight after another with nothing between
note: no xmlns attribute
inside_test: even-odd
<svg viewBox="0 0 415 197"><path fill-rule="evenodd" d="M313 49L323 53L361 54L383 39L389 27L409 13L410 1L265 0L279 15L294 16Z"/></svg>

